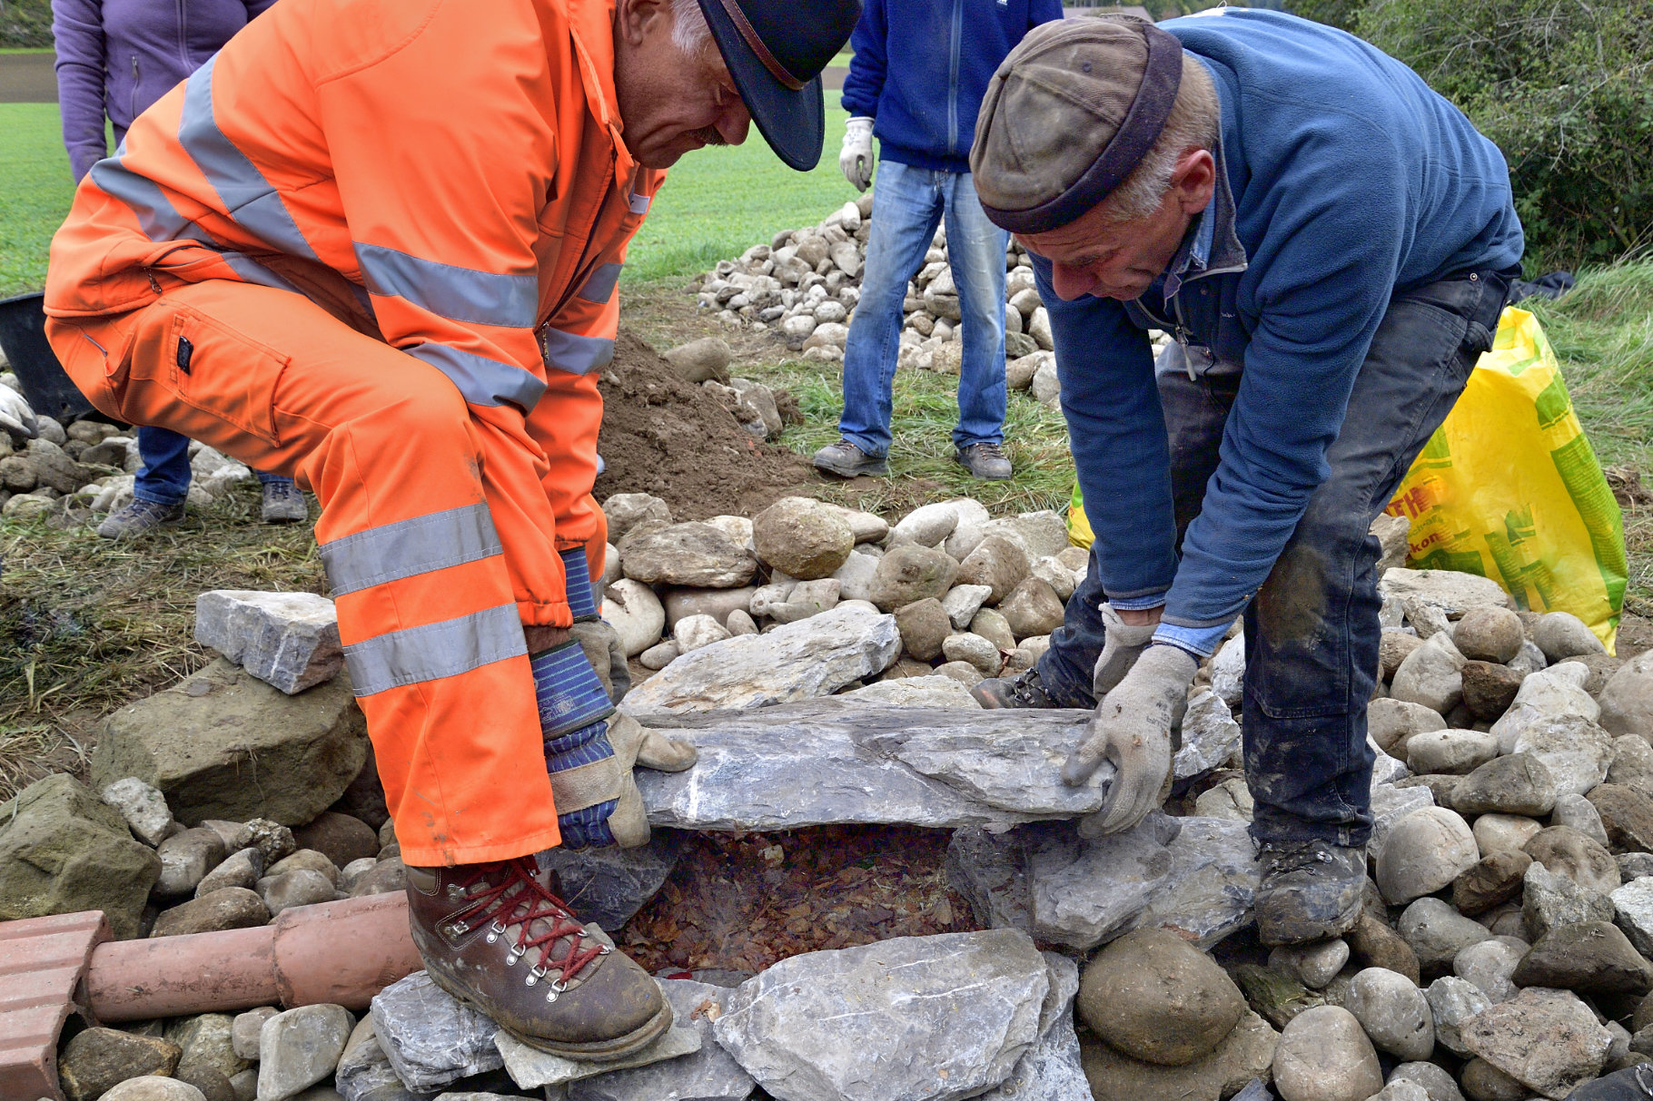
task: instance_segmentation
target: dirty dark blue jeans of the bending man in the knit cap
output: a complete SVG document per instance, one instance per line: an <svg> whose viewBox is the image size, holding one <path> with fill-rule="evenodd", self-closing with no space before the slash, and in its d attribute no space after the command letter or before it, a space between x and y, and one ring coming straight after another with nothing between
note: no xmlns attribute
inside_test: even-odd
<svg viewBox="0 0 1653 1101"><path fill-rule="evenodd" d="M1491 347L1511 274L1463 273L1390 299L1326 455L1331 476L1245 610L1245 769L1258 841L1367 841L1365 704L1382 635L1379 544L1367 529ZM1238 388L1238 374L1159 377L1179 541L1217 471ZM1106 600L1099 574L1093 557L1038 666L1045 689L1069 708L1096 703L1091 670L1103 651Z"/></svg>

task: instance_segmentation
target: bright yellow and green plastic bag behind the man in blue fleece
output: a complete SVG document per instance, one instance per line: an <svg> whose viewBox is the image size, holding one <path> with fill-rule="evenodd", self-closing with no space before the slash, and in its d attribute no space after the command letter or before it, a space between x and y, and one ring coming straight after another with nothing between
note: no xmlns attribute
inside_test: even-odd
<svg viewBox="0 0 1653 1101"><path fill-rule="evenodd" d="M1608 653L1625 526L1537 319L1504 309L1493 347L1385 509L1412 521L1407 565L1491 577L1531 612L1572 612ZM1068 537L1089 547L1079 486Z"/></svg>

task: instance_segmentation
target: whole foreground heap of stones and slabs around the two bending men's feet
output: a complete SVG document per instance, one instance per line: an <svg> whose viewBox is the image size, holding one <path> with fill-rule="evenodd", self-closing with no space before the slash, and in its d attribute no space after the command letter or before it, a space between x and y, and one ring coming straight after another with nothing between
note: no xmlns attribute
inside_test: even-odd
<svg viewBox="0 0 1653 1101"><path fill-rule="evenodd" d="M1190 689L1169 813L1088 836L1074 820L1111 770L1060 779L1086 713L984 711L967 691L1060 623L1084 560L1058 516L959 499L889 526L787 498L676 524L641 494L605 514L605 615L643 663L623 708L701 760L638 772L648 846L542 855L580 913L620 931L683 830L901 822L952 832L947 878L982 931L661 974L676 1025L625 1065L526 1048L423 972L359 1020L316 1005L94 1028L63 1050L71 1101L1560 1101L1653 1056L1653 655L1610 658L1486 579L1400 569L1403 521L1374 526L1365 911L1346 937L1266 951L1238 630ZM198 636L223 658L109 717L104 798L51 777L0 807L0 906L50 888L58 909L159 936L230 891L266 921L301 886L398 884L326 603L203 595ZM46 832L86 838L69 863L89 871L25 871Z"/></svg>

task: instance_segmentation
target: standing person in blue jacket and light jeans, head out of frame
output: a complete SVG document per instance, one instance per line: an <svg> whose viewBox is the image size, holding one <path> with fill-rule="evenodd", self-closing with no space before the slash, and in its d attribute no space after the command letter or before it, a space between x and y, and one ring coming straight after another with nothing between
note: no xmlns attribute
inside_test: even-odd
<svg viewBox="0 0 1653 1101"><path fill-rule="evenodd" d="M947 218L947 260L959 288L959 425L954 458L977 478L1010 478L1005 440L1005 248L970 184L975 112L993 69L1033 26L1061 18L1061 0L866 0L850 36L843 83L850 126L838 167L865 192L873 136L883 145L873 184L861 301L843 349L843 436L815 453L818 469L888 474L889 395L901 344L901 303Z"/></svg>

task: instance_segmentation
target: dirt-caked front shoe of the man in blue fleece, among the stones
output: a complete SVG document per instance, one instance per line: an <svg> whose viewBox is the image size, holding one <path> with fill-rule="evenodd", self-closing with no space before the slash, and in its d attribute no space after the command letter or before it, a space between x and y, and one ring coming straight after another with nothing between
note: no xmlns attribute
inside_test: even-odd
<svg viewBox="0 0 1653 1101"><path fill-rule="evenodd" d="M1309 944L1360 921L1365 846L1268 841L1258 850L1256 934L1263 944Z"/></svg>

